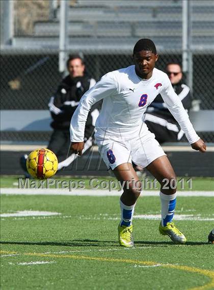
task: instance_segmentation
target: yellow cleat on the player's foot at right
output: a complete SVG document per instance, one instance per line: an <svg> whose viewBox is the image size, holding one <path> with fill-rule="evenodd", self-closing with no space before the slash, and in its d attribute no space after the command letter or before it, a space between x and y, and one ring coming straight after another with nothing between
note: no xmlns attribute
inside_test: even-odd
<svg viewBox="0 0 214 290"><path fill-rule="evenodd" d="M162 235L168 235L172 241L178 244L185 244L186 238L174 225L174 223L167 223L165 227L159 225L159 232Z"/></svg>

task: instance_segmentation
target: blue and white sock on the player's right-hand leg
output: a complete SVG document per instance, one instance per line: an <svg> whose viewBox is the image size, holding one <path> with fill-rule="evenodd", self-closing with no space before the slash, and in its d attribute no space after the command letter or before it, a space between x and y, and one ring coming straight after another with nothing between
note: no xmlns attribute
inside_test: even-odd
<svg viewBox="0 0 214 290"><path fill-rule="evenodd" d="M161 216L162 226L165 227L167 223L172 222L175 205L176 205L176 192L173 195L165 195L160 192L161 197Z"/></svg>

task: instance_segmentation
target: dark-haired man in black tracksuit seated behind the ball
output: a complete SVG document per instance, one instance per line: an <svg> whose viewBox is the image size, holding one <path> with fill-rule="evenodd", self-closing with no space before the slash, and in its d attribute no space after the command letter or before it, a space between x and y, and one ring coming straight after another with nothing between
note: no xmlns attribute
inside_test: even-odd
<svg viewBox="0 0 214 290"><path fill-rule="evenodd" d="M69 57L67 60L67 69L69 75L62 80L56 93L51 96L48 104L53 118L53 122L51 123L53 133L47 148L57 155L59 163L66 159L70 146L69 128L71 117L82 95L96 83L94 79L86 74L84 61L79 56ZM91 108L85 128L84 141L86 142L88 140L91 145L92 138L90 137L94 131L96 118L99 115L97 108L99 108L99 105ZM61 169L60 167L61 165L59 164L58 170Z"/></svg>

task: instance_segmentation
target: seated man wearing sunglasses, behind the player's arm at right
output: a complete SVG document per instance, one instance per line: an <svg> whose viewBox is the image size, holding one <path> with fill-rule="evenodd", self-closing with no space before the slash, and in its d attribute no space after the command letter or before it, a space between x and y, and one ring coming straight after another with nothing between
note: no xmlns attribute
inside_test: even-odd
<svg viewBox="0 0 214 290"><path fill-rule="evenodd" d="M190 88L182 82L183 75L180 64L175 62L168 63L166 72L174 91L180 98L184 109L188 112L191 108ZM156 140L161 144L164 142L178 142L184 135L160 94L148 107L145 123L149 131L155 134Z"/></svg>

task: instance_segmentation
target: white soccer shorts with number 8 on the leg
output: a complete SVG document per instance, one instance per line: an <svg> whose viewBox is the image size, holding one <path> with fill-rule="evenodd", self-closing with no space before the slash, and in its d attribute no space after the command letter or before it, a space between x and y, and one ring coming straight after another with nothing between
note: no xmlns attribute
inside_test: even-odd
<svg viewBox="0 0 214 290"><path fill-rule="evenodd" d="M131 161L144 168L158 157L166 155L154 134L148 130L143 136L133 136L132 139L112 136L102 138L95 134L95 141L103 161L112 170Z"/></svg>

